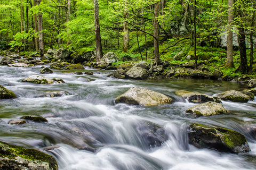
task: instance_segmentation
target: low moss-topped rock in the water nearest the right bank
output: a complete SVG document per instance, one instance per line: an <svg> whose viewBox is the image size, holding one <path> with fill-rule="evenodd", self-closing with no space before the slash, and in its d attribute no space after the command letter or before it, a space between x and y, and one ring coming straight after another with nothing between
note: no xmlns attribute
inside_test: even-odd
<svg viewBox="0 0 256 170"><path fill-rule="evenodd" d="M249 96L236 90L229 90L229 91L222 92L221 94L217 94L217 97L220 97L221 100L230 100L233 102L241 102L241 103L246 103L250 99Z"/></svg>

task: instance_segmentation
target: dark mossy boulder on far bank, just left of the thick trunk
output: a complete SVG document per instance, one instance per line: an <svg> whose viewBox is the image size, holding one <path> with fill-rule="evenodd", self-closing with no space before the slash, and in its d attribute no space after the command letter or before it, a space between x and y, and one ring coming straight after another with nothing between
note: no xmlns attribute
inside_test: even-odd
<svg viewBox="0 0 256 170"><path fill-rule="evenodd" d="M91 61L91 57L95 57L96 53L95 51L86 51L86 50L81 50L77 52L73 58L73 63L78 64L78 63L84 63Z"/></svg>

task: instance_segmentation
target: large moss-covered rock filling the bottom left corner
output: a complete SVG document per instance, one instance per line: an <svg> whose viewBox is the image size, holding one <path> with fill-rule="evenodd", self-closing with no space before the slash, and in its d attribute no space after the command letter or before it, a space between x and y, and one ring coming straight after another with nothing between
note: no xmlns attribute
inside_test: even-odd
<svg viewBox="0 0 256 170"><path fill-rule="evenodd" d="M0 142L1 169L57 170L58 164L53 156L44 152Z"/></svg>

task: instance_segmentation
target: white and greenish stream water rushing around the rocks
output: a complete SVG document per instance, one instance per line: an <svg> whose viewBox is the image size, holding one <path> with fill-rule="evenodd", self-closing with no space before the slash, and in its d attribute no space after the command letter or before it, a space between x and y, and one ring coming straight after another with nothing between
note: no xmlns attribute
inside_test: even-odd
<svg viewBox="0 0 256 170"><path fill-rule="evenodd" d="M255 99L245 104L222 101L228 114L196 118L185 112L195 104L174 94L189 90L214 95L243 90L246 84L195 79L118 80L107 77L110 71L88 68L93 75L68 71L44 75L61 78L66 82L62 84L21 82L39 74L39 70L0 66L0 84L18 96L0 101L0 140L37 149L58 146L45 152L57 159L59 169L256 169L255 131L252 135L247 130L256 124ZM175 102L148 107L115 104L117 96L136 86L161 92ZM46 91L66 91L69 95L42 97ZM43 116L48 122L8 124L25 115ZM163 127L167 134L167 141L159 147L148 146L141 135L139 127L149 122ZM190 123L218 125L243 133L251 151L229 154L195 148L188 144Z"/></svg>

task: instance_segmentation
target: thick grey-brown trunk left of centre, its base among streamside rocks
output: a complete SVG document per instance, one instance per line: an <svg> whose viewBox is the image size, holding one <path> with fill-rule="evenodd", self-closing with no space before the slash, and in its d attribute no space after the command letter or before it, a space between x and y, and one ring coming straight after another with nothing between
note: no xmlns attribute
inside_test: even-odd
<svg viewBox="0 0 256 170"><path fill-rule="evenodd" d="M96 44L96 61L100 61L103 56L101 37L100 37L100 19L98 0L94 0L94 28L95 28L95 44Z"/></svg>

